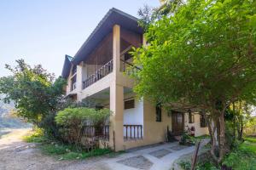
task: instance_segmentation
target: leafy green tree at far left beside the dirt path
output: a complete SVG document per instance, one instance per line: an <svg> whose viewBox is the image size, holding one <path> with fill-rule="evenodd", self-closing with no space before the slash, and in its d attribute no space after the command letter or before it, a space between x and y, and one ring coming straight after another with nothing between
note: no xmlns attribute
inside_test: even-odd
<svg viewBox="0 0 256 170"><path fill-rule="evenodd" d="M55 111L66 81L45 71L42 65L31 67L23 59L16 60L17 66L6 68L12 76L0 78L0 94L4 101L14 101L17 114L38 125L49 111Z"/></svg>

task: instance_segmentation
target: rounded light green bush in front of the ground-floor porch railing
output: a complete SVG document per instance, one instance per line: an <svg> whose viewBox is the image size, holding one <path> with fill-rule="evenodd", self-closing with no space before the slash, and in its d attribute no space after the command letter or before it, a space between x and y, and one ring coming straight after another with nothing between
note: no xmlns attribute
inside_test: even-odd
<svg viewBox="0 0 256 170"><path fill-rule="evenodd" d="M108 109L96 111L86 107L67 108L57 113L55 122L60 126L63 140L69 144L81 145L83 126L92 125L96 129L100 128L107 123L109 116Z"/></svg>

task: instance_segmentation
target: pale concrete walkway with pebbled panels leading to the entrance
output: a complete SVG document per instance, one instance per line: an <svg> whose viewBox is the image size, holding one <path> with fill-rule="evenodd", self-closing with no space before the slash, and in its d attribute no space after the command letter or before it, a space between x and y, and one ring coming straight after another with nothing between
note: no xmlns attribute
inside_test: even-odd
<svg viewBox="0 0 256 170"><path fill-rule="evenodd" d="M201 146L204 144L207 144L207 141L204 141ZM183 146L177 142L160 144L142 150L131 150L116 158L104 160L104 164L113 170L170 170L173 161L194 150L195 146Z"/></svg>

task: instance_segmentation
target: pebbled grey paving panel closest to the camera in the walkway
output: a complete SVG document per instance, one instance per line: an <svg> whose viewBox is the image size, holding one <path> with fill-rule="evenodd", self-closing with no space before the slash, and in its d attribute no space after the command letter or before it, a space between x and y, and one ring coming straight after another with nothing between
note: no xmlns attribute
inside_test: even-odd
<svg viewBox="0 0 256 170"><path fill-rule="evenodd" d="M153 163L151 161L148 161L148 159L144 156L133 156L117 162L128 167L136 167L138 169L145 170L153 166Z"/></svg>

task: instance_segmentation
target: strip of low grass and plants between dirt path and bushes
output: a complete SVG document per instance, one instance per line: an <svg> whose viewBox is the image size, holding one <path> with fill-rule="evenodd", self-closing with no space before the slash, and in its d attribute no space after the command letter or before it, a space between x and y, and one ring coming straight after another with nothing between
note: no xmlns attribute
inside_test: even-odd
<svg viewBox="0 0 256 170"><path fill-rule="evenodd" d="M71 144L63 144L53 139L44 137L44 132L37 129L34 133L23 138L28 143L39 143L38 148L45 155L55 156L58 160L74 160L74 159L85 159L92 156L115 156L110 149L95 149L89 152L79 150L77 147Z"/></svg>

